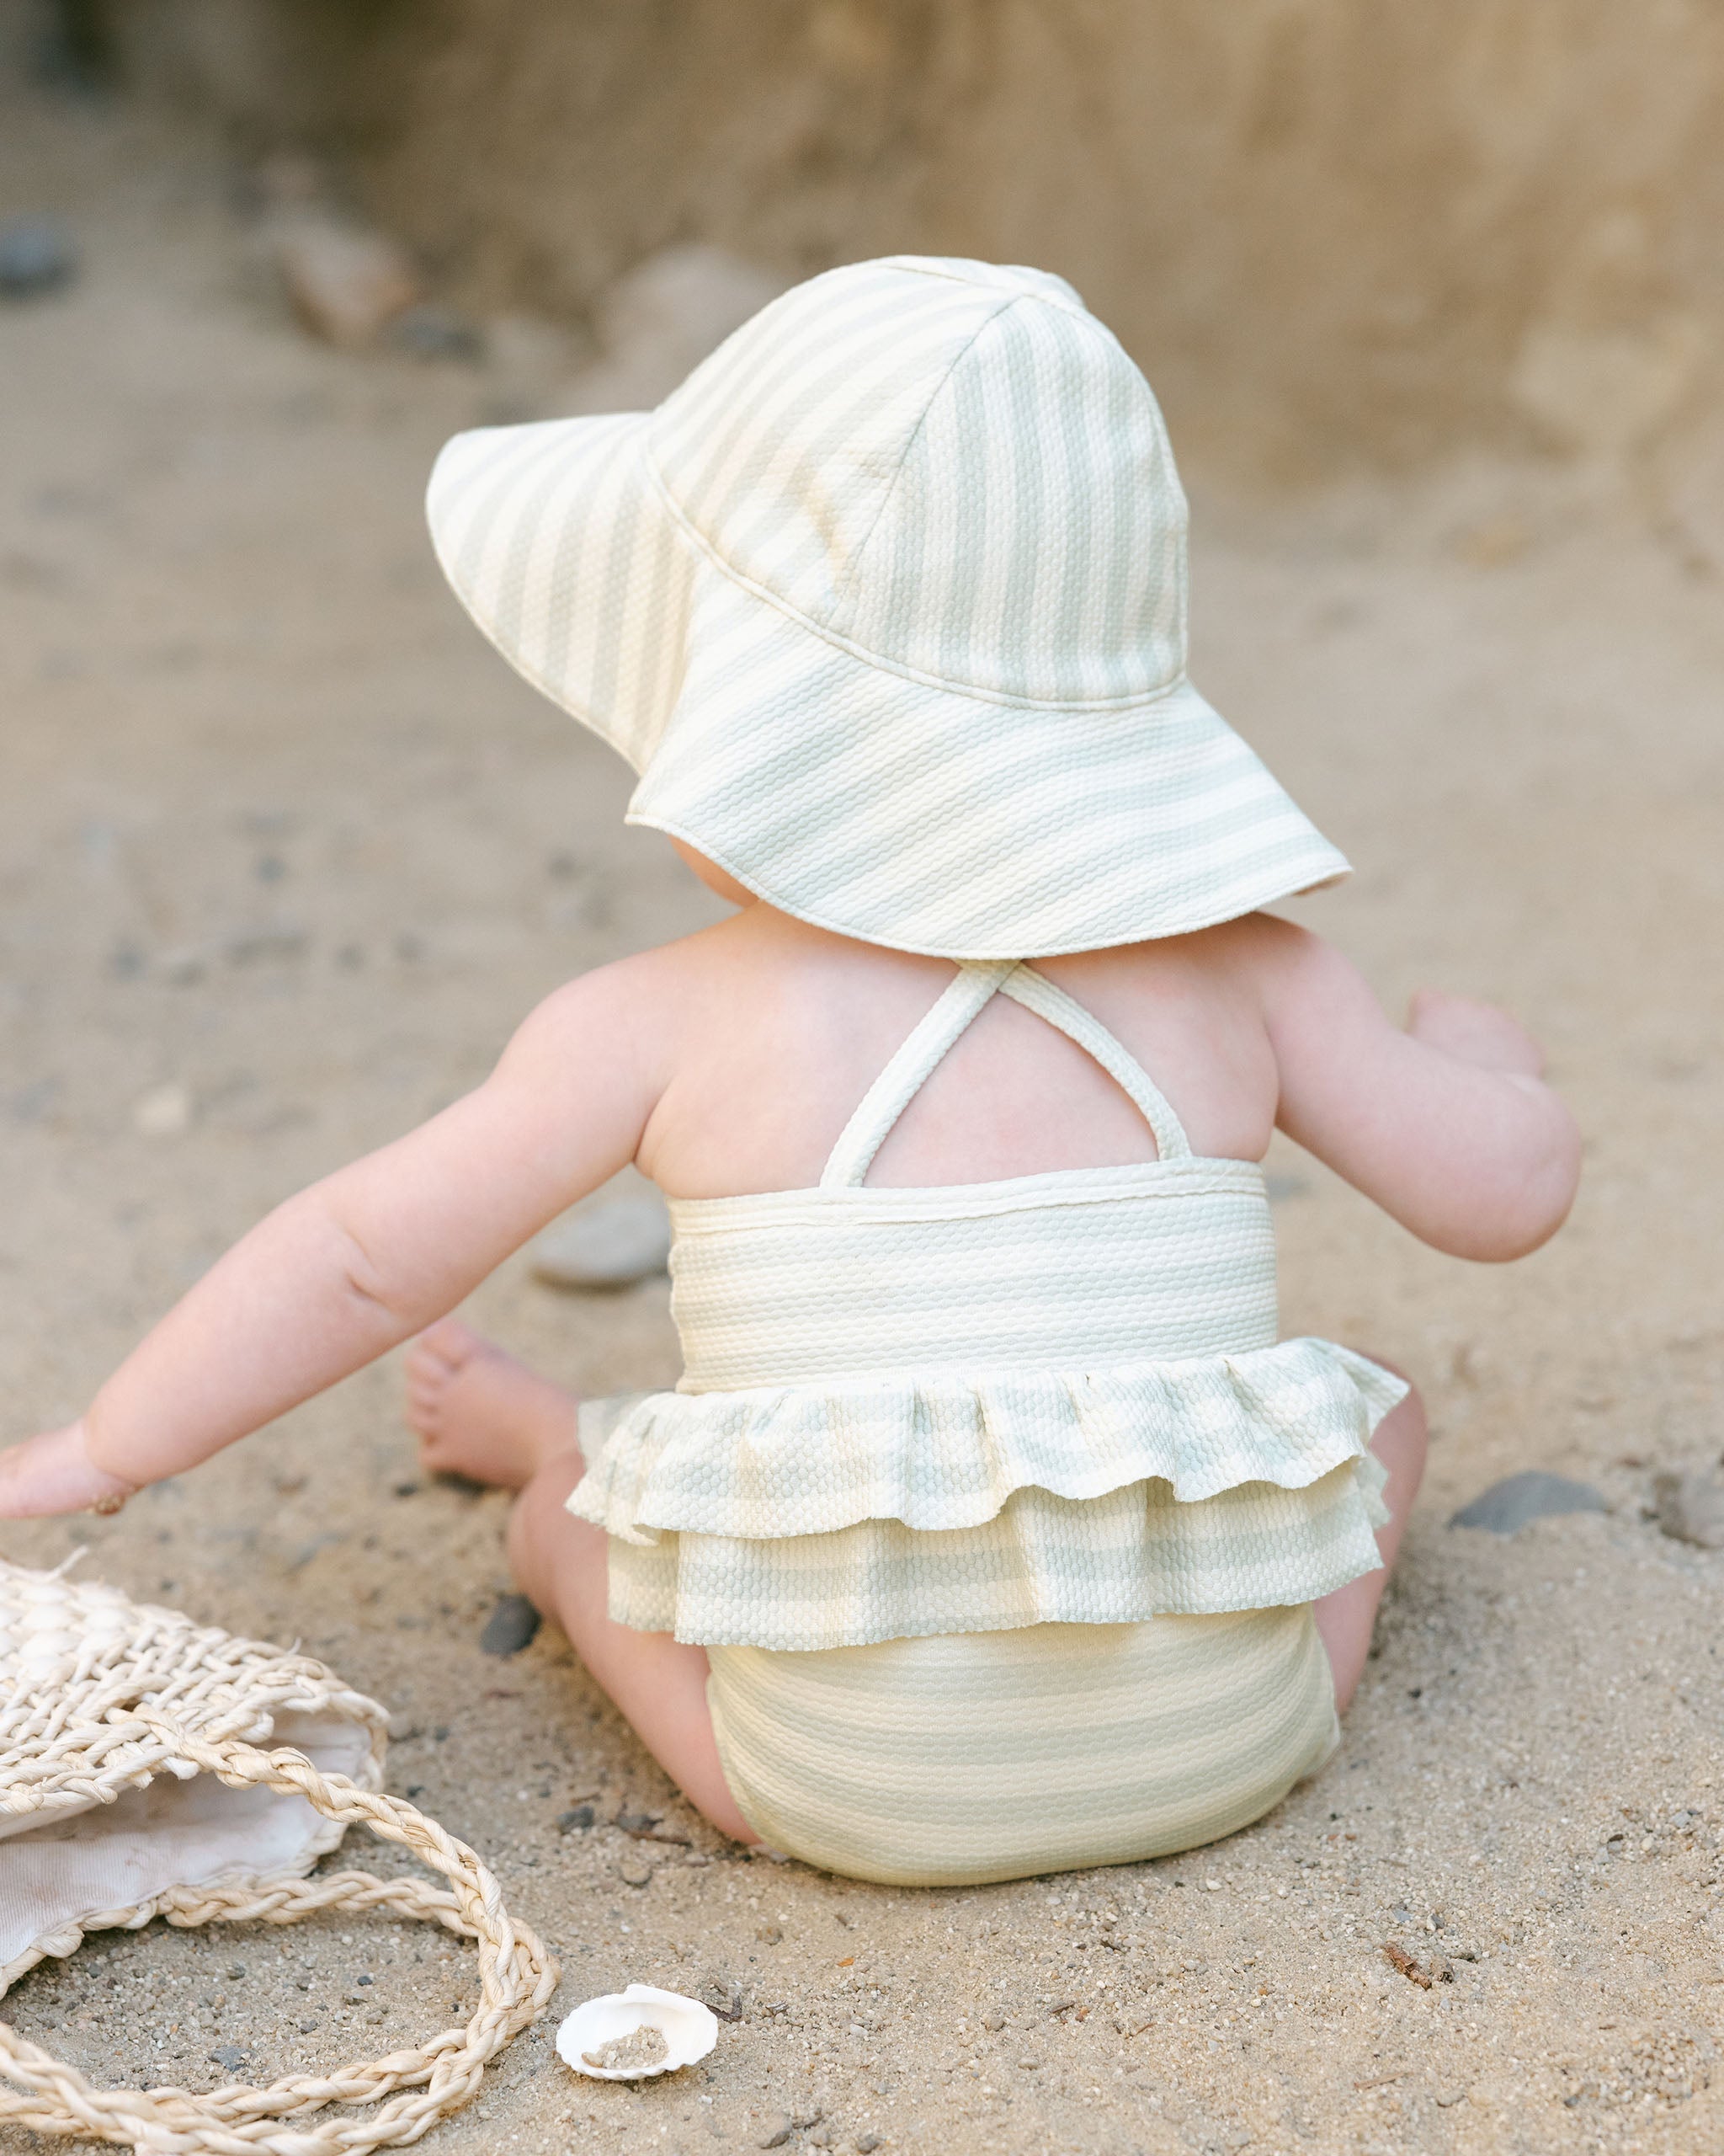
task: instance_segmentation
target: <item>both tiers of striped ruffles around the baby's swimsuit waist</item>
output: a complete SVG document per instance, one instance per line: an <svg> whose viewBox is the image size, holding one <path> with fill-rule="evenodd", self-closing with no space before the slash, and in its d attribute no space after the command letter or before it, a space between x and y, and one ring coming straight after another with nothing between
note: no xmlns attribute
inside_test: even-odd
<svg viewBox="0 0 1724 2156"><path fill-rule="evenodd" d="M1366 1449L1405 1384L1330 1341L1106 1371L593 1401L569 1509L610 1615L862 1647L1312 1602L1379 1563Z"/></svg>

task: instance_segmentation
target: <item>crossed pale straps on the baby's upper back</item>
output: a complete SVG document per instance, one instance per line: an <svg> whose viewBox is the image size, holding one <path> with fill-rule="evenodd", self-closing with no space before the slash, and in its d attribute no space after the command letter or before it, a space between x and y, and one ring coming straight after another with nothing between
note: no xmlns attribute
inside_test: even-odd
<svg viewBox="0 0 1724 2156"><path fill-rule="evenodd" d="M1034 972L1021 959L989 959L983 964L965 959L959 962L957 977L879 1078L875 1078L862 1095L856 1115L838 1132L838 1143L832 1147L821 1171L821 1190L860 1188L892 1125L922 1091L942 1056L981 1011L987 1009L996 994L1006 994L1013 1003L1021 1003L1026 1011L1034 1011L1037 1018L1095 1056L1155 1132L1155 1153L1159 1160L1192 1158L1192 1141L1185 1136L1185 1125L1172 1112L1142 1063L1108 1033L1099 1018L1093 1018L1082 1003L1073 1003L1062 987L1054 987L1049 979Z"/></svg>

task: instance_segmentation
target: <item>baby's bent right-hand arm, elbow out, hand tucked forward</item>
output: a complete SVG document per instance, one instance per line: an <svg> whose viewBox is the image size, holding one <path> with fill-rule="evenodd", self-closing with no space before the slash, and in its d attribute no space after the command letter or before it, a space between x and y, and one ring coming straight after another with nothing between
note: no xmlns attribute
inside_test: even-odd
<svg viewBox="0 0 1724 2156"><path fill-rule="evenodd" d="M1547 1242L1573 1205L1580 1132L1537 1041L1506 1011L1442 994L1416 996L1403 1033L1338 951L1284 921L1256 927L1289 1138L1450 1257Z"/></svg>

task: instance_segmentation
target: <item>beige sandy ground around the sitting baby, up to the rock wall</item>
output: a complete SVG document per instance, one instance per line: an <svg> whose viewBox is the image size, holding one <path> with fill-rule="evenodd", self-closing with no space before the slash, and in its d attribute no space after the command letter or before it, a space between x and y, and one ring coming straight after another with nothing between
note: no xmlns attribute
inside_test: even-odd
<svg viewBox="0 0 1724 2156"><path fill-rule="evenodd" d="M472 1082L539 994L709 903L437 580L422 479L496 382L302 338L185 136L9 110L0 209L26 203L73 218L86 272L0 313L17 1436L274 1199ZM573 2081L547 2018L437 2147L690 2156L815 2115L780 2145L1718 2145L1724 1557L1646 1496L1722 1440L1722 589L1687 526L1573 472L1198 496L1200 679L1358 862L1308 918L1390 1000L1515 1005L1588 1132L1573 1225L1506 1272L1274 1160L1287 1328L1409 1367L1437 1436L1345 1751L1250 1833L976 1893L733 1856L556 1636L478 1651L504 1507L416 1473L390 1367L112 1522L0 1535L22 1561L88 1544L88 1572L300 1636L384 1699L392 1785L562 1953L554 2016L629 1979L741 1988L707 2068L640 2089ZM571 1382L675 1376L664 1283L582 1300L517 1261L474 1309ZM1521 1466L1610 1511L1444 1524ZM595 1824L558 1828L582 1802ZM1452 1981L1414 1986L1384 1940ZM91 2070L213 2085L218 2044L259 2076L334 2063L461 1986L388 1925L153 1927L6 2012Z"/></svg>

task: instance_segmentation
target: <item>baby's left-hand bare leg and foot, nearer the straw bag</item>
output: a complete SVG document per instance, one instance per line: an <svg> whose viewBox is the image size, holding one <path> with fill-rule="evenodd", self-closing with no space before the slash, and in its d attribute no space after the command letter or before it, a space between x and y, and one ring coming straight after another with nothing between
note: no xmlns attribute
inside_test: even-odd
<svg viewBox="0 0 1724 2156"><path fill-rule="evenodd" d="M759 1841L737 1811L707 1712L707 1651L670 1632L634 1632L606 1608L606 1533L562 1501L584 1473L575 1399L455 1319L407 1363L409 1421L440 1473L519 1490L509 1563L522 1593L558 1626L636 1736L720 1833Z"/></svg>

